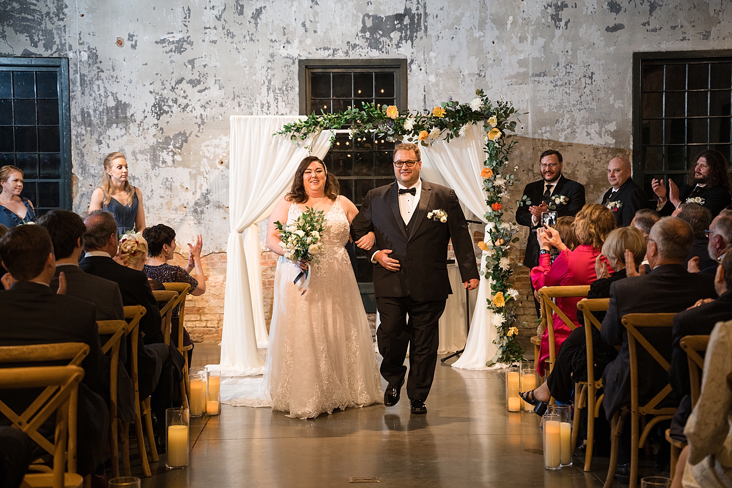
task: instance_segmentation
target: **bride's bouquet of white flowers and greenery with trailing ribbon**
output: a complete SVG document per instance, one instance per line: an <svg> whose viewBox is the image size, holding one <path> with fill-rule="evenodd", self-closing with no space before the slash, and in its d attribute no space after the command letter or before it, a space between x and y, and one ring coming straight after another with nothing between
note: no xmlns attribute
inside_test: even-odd
<svg viewBox="0 0 732 488"><path fill-rule="evenodd" d="M298 260L309 263L323 250L323 232L325 230L325 214L322 210L308 208L290 225L275 222L280 230L280 247L285 251L285 259L296 263ZM310 269L300 271L294 279L298 290L305 293L310 284Z"/></svg>

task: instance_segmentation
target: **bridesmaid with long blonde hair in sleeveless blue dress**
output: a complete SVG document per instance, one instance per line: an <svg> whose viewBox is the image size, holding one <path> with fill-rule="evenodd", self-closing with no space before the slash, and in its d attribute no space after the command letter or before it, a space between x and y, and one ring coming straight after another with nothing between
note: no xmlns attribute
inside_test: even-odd
<svg viewBox="0 0 732 488"><path fill-rule="evenodd" d="M145 228L142 192L128 181L127 159L121 152L112 152L104 158L103 166L102 186L91 193L89 211L112 212L117 222L117 236L132 229L142 232Z"/></svg>

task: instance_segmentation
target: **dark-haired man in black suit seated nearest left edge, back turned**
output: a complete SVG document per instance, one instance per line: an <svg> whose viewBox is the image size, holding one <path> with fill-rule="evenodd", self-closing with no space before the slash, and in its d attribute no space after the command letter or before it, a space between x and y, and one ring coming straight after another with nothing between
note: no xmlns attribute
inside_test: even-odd
<svg viewBox="0 0 732 488"><path fill-rule="evenodd" d="M109 413L104 400L109 397L109 369L105 369L102 361L94 320L96 309L94 304L58 295L48 288L56 272L56 260L51 238L39 225L19 225L8 231L0 239L0 260L15 279L10 290L0 292L3 315L0 345L53 342L89 345L89 354L81 363L84 378L78 390L77 420L77 468L78 473L85 476L102 461L109 435ZM39 393L12 391L12 394L3 394L2 400L15 412L22 412ZM0 414L0 423L8 425L8 422ZM55 424L56 418L51 416L42 427L42 435L53 440Z"/></svg>

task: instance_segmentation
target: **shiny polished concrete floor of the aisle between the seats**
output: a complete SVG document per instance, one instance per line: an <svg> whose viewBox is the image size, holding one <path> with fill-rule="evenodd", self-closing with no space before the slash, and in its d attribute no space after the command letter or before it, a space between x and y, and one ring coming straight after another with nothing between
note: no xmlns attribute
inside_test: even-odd
<svg viewBox="0 0 732 488"><path fill-rule="evenodd" d="M218 357L217 345L195 346L194 365ZM426 416L410 415L405 391L395 407L308 421L223 405L219 417L192 420L190 465L166 471L161 455L142 486L329 488L378 476L373 486L384 488L602 487L606 459L592 473L544 470L539 417L506 412L501 373L455 369L452 361L438 363Z"/></svg>

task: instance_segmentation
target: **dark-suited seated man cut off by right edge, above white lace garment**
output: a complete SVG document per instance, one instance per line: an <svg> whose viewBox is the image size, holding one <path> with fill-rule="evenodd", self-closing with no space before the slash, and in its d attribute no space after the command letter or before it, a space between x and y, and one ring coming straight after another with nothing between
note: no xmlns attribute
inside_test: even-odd
<svg viewBox="0 0 732 488"><path fill-rule="evenodd" d="M691 393L689 362L687 354L681 349L681 338L712 334L714 324L732 320L732 253L725 255L722 263L717 266L714 288L719 298L699 300L692 308L684 310L673 319L673 353L668 379L679 398Z"/></svg>

